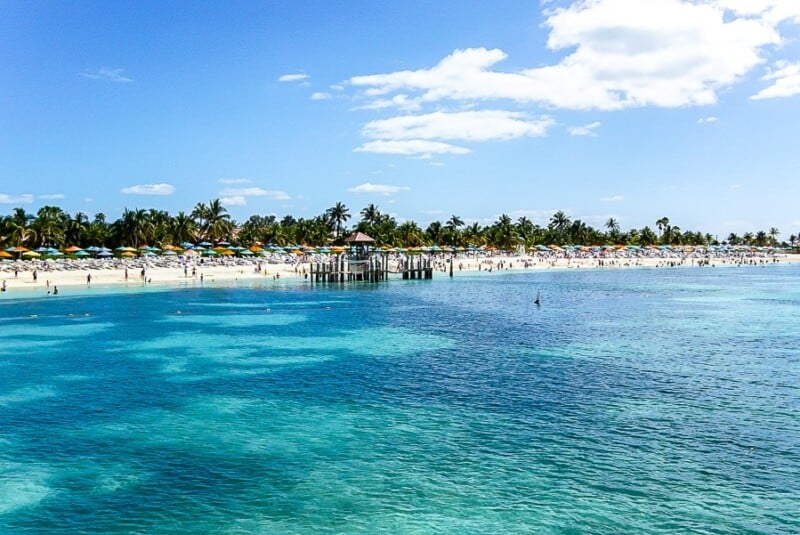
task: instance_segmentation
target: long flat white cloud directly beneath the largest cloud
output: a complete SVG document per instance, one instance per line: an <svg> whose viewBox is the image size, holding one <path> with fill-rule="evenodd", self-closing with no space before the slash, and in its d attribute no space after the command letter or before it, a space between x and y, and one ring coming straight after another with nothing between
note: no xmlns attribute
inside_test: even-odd
<svg viewBox="0 0 800 535"><path fill-rule="evenodd" d="M528 119L525 114L501 111L441 111L402 115L371 121L361 130L364 137L382 140L440 139L489 141L522 136L543 136L555 124L550 117Z"/></svg>

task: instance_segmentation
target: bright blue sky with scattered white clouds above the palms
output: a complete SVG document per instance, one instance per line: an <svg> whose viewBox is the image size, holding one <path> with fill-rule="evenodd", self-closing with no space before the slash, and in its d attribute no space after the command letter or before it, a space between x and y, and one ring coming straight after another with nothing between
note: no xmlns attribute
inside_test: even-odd
<svg viewBox="0 0 800 535"><path fill-rule="evenodd" d="M800 1L0 0L0 215L800 234Z"/></svg>

